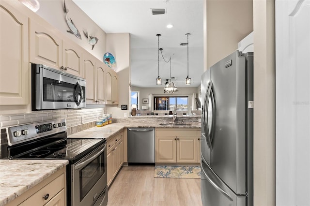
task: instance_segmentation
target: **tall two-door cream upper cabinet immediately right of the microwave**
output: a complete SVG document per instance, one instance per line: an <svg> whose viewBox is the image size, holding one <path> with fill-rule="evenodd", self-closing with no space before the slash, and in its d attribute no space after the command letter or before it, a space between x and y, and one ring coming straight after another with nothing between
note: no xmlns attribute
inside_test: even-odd
<svg viewBox="0 0 310 206"><path fill-rule="evenodd" d="M105 73L103 62L89 53L83 53L83 78L86 79L86 104L105 103Z"/></svg>

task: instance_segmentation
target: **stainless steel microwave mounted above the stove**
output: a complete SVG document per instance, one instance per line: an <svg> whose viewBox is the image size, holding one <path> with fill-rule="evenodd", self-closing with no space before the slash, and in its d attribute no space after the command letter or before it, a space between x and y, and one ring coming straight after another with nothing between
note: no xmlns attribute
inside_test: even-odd
<svg viewBox="0 0 310 206"><path fill-rule="evenodd" d="M86 80L42 64L31 64L32 110L86 107Z"/></svg>

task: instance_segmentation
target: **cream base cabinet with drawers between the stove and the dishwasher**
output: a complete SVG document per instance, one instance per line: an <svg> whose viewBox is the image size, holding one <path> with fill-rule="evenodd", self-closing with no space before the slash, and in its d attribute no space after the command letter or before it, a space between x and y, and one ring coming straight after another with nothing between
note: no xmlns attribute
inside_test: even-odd
<svg viewBox="0 0 310 206"><path fill-rule="evenodd" d="M124 133L120 132L107 142L108 186L124 163Z"/></svg>

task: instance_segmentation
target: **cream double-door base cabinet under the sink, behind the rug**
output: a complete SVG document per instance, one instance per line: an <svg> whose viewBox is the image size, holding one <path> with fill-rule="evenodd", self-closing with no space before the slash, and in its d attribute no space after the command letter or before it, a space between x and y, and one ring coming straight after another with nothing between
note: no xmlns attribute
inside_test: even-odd
<svg viewBox="0 0 310 206"><path fill-rule="evenodd" d="M194 129L156 129L155 162L197 163L197 131Z"/></svg>

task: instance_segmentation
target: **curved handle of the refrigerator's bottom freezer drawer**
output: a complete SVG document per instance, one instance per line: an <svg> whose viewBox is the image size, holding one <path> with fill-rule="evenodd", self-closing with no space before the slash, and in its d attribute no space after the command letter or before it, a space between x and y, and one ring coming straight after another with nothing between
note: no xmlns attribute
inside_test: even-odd
<svg viewBox="0 0 310 206"><path fill-rule="evenodd" d="M212 171L212 169L210 168L210 166L208 165L208 163L206 162L203 156L202 156L200 164L202 167L202 173L207 178L207 180L213 185L213 187L217 191L222 193L225 197L227 197L230 201L233 202L233 198L228 194L228 192L226 192L225 189L223 189L222 187L220 187L220 185L216 183L216 182L222 183L223 184L222 186L225 185L225 183L223 183L222 180L219 177L217 177L217 175Z"/></svg>

